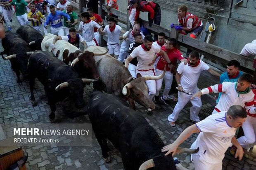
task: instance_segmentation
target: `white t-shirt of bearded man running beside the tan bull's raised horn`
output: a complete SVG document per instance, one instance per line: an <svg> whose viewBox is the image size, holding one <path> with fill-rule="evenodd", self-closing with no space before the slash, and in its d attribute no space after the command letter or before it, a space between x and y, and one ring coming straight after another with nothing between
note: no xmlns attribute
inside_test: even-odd
<svg viewBox="0 0 256 170"><path fill-rule="evenodd" d="M146 51L142 49L141 45L133 50L133 52L130 54L132 58L137 57L138 64L137 69L138 70L149 70L153 69L154 66L149 66L149 63L152 63L152 60L154 59L155 53L160 52L160 48L152 45L151 49L149 51Z"/></svg>

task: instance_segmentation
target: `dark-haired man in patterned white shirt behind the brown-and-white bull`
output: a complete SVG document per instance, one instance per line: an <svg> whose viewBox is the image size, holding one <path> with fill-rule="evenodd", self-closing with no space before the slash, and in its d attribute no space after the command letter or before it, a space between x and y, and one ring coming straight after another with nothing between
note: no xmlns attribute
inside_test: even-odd
<svg viewBox="0 0 256 170"><path fill-rule="evenodd" d="M88 12L82 12L80 16L81 22L79 23L79 28L76 30L76 32L80 33L83 31L83 39L87 43L88 47L99 46L94 37L94 27L99 29L100 25L90 19Z"/></svg>

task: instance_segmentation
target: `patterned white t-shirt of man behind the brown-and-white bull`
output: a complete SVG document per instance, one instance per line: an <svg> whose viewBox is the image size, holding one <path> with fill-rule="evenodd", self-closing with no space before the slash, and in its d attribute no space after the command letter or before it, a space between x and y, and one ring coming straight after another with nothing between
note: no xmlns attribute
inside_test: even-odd
<svg viewBox="0 0 256 170"><path fill-rule="evenodd" d="M89 23L81 21L79 23L78 30L83 31L83 39L85 42L90 42L94 39L94 27L100 28L100 25L95 21L90 21Z"/></svg>

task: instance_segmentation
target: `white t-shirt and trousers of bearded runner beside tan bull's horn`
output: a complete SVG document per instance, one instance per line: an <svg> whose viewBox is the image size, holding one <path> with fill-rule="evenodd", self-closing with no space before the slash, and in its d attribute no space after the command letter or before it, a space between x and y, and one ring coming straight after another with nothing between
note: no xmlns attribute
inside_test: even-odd
<svg viewBox="0 0 256 170"><path fill-rule="evenodd" d="M140 73L142 77L145 76L154 76L154 67L153 65L149 66L149 63L154 59L155 53L160 52L160 48L152 45L151 49L148 51L145 49L144 44L135 48L133 52L130 54L132 58L137 57L137 73ZM147 80L146 84L149 88L149 99L152 100L154 95L156 94L156 81L155 80Z"/></svg>

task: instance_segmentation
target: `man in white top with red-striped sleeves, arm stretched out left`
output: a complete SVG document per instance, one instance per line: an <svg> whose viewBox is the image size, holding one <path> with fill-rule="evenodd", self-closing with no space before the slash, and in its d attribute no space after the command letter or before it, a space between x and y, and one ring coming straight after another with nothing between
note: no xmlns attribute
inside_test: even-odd
<svg viewBox="0 0 256 170"><path fill-rule="evenodd" d="M200 98L202 94L220 93L220 100L215 106L212 114L227 111L232 105L240 105L245 107L247 112L254 106L254 93L250 86L253 82L252 75L244 73L237 82L223 82L223 84L216 84L207 88L203 88L192 96L193 98Z"/></svg>

